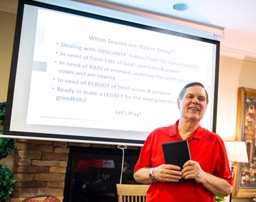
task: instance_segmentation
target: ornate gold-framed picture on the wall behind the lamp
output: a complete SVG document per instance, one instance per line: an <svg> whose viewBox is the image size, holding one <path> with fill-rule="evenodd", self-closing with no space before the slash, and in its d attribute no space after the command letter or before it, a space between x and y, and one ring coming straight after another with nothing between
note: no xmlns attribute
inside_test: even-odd
<svg viewBox="0 0 256 202"><path fill-rule="evenodd" d="M238 88L236 140L244 141L249 163L238 163L232 195L253 198L256 194L256 90Z"/></svg>

